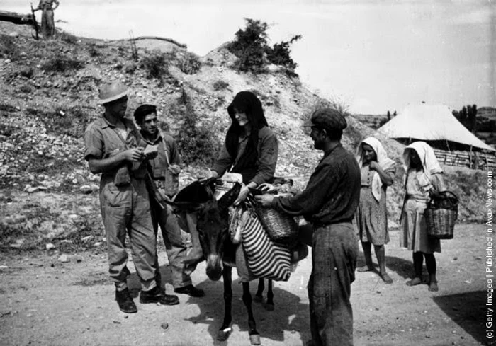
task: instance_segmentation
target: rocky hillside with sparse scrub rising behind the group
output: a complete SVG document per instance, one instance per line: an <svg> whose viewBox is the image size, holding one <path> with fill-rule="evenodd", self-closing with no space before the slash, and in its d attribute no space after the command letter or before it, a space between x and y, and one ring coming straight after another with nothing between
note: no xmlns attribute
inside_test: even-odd
<svg viewBox="0 0 496 346"><path fill-rule="evenodd" d="M99 177L89 173L82 158L82 135L86 125L102 113L97 103L98 86L106 81L118 79L129 86L129 116L137 105L154 103L158 106L162 127L174 137L184 137L185 123L193 122L195 133L207 134L215 149L220 149L229 125L227 105L237 92L253 91L262 101L269 125L279 139L276 174L301 183L308 180L321 154L313 149L312 141L305 134L303 119L319 106L332 103L303 86L298 77L288 76L280 67L271 65L265 74L236 71L233 69L236 57L225 47L205 57L196 57L162 40L138 40L136 48L137 52L133 52L127 40L92 40L65 33L56 40L36 41L31 38L28 26L0 22L2 247L6 246L5 242L16 240L19 229L26 229L23 220L33 215L23 212L23 208L31 212L38 208L34 214L40 218L39 222L30 226L30 230L38 231L38 241L43 237L67 238L72 231L81 228L87 231L86 236L92 228L101 230L94 193L98 190ZM374 130L352 115L347 120L349 127L343 142L346 149L354 151L356 144ZM380 139L400 163L403 146L393 140ZM182 149L186 158L194 156L195 150ZM198 152L201 151L198 149ZM198 157L196 163L189 160L191 164L184 168L181 183L193 180L198 169L208 166L208 160L216 156L215 150L207 154L210 158L205 157L203 163ZM476 184L479 172L472 173L456 173L456 181L467 177L475 180L478 187L481 185ZM398 220L398 204L402 202L400 175L398 169L397 183L388 196L393 226ZM469 209L461 209L462 219L482 217L476 204L482 200L482 191L461 190L456 185L453 190L468 203L475 203ZM39 205L35 203L35 207L30 208L26 201L34 195L38 196ZM86 203L82 209L81 199ZM64 227L68 222L69 226ZM13 245L23 247L22 243Z"/></svg>

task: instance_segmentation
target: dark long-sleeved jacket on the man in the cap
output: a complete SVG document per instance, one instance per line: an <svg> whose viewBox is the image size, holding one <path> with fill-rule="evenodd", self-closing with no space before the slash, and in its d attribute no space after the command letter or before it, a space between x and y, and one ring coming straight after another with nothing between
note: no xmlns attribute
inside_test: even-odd
<svg viewBox="0 0 496 346"><path fill-rule="evenodd" d="M303 215L315 227L349 222L360 200L360 168L341 144L325 153L302 192L275 197L272 207Z"/></svg>

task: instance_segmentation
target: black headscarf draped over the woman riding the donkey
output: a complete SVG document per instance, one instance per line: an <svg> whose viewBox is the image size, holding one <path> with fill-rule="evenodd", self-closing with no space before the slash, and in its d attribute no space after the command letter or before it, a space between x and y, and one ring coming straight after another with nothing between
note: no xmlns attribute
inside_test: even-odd
<svg viewBox="0 0 496 346"><path fill-rule="evenodd" d="M239 122L235 119L235 109L240 113L244 113L247 116L249 124L252 125L252 131L249 134L244 154L239 158L235 167L232 168L233 173L242 173L244 180L244 171L247 169L253 171L254 166L257 164L259 129L269 125L267 124L264 110L261 108L261 102L257 96L250 91L241 91L237 93L234 100L232 100L232 103L227 107L227 113L229 113L232 123L227 130L225 146L232 158L237 158L239 136L244 134L244 128L240 126ZM250 172L249 175L254 175L255 173L256 172Z"/></svg>

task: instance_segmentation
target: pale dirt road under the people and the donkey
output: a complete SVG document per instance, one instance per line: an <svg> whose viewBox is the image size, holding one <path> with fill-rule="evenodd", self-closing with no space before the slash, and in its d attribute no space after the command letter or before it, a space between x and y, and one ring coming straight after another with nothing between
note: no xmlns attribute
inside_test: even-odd
<svg viewBox="0 0 496 346"><path fill-rule="evenodd" d="M352 285L355 345L485 345L485 245L482 225L456 226L455 238L443 241L443 252L436 256L440 290L432 293L425 284L405 285L412 254L398 247L398 232L391 232L386 255L395 282L383 284L366 272L356 273ZM136 299L138 313L126 315L113 301L106 255L68 255L68 263L58 255L1 256L1 345L249 345L237 281L232 335L226 342L215 340L223 316L222 280L208 280L204 263L193 274L195 284L205 289L203 299L180 295L177 306L142 305ZM160 260L172 292L165 253ZM363 255L359 261L363 265ZM307 258L288 282L276 283L273 312L255 306L262 345L303 345L310 337L310 269ZM136 295L135 275L130 287Z"/></svg>

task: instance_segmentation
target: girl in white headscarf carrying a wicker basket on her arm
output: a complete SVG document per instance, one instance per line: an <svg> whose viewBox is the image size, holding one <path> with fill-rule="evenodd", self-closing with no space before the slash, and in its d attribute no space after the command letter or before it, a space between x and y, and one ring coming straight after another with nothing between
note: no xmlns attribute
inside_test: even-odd
<svg viewBox="0 0 496 346"><path fill-rule="evenodd" d="M407 282L408 286L422 283L422 265L425 257L429 272L429 291L436 292L436 258L434 253L441 252L441 241L427 235L424 211L429 200L446 190L443 170L439 166L434 150L425 142L414 142L403 152L405 163L405 204L401 221L400 246L413 250L415 277Z"/></svg>

